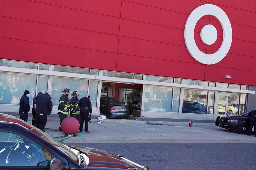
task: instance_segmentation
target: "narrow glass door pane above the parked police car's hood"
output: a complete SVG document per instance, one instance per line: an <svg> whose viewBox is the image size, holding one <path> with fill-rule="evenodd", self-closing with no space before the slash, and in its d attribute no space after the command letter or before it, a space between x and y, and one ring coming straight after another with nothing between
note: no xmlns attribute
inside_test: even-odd
<svg viewBox="0 0 256 170"><path fill-rule="evenodd" d="M224 117L227 116L228 112L228 94L227 93L218 93L218 116Z"/></svg>

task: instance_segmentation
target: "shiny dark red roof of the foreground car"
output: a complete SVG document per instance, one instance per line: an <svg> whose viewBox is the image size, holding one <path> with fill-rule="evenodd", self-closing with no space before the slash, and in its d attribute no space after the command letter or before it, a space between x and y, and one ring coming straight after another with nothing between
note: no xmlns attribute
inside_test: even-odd
<svg viewBox="0 0 256 170"><path fill-rule="evenodd" d="M4 113L0 113L0 125L12 126L17 128L25 127L29 130L33 129L32 125L25 122L24 120Z"/></svg>

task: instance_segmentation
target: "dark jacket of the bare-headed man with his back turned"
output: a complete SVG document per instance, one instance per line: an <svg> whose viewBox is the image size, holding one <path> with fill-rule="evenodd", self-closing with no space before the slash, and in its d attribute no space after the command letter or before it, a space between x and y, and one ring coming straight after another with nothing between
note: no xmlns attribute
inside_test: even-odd
<svg viewBox="0 0 256 170"><path fill-rule="evenodd" d="M36 104L36 113L50 115L53 109L53 101L48 93L39 95Z"/></svg>

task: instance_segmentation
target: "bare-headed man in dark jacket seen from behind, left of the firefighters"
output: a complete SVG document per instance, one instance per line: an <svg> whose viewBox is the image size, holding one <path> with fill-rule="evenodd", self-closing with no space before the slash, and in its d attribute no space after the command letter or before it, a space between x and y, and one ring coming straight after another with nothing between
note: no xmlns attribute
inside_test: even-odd
<svg viewBox="0 0 256 170"><path fill-rule="evenodd" d="M38 96L37 105L36 105L36 114L37 114L37 127L44 131L44 127L47 123L47 115L50 115L53 109L51 92L44 93Z"/></svg>

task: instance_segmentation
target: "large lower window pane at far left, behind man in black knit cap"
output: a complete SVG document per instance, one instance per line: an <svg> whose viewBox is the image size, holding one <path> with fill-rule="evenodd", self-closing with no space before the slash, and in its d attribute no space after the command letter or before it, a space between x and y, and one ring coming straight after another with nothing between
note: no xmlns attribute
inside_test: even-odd
<svg viewBox="0 0 256 170"><path fill-rule="evenodd" d="M32 104L36 95L36 75L0 72L0 103L19 104L25 90L30 92L29 102Z"/></svg>

